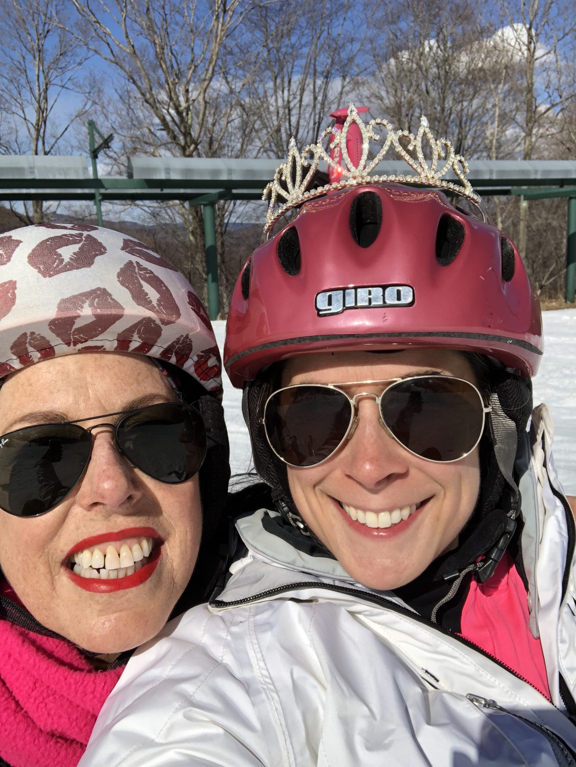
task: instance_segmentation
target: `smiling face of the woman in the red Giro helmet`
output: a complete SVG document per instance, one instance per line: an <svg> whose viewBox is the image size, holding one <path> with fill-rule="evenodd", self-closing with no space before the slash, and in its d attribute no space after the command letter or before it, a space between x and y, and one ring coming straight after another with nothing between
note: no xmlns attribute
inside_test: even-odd
<svg viewBox="0 0 576 767"><path fill-rule="evenodd" d="M432 371L476 384L462 354L420 349L294 357L285 366L282 386L388 380ZM347 393L380 394L385 386L363 384ZM454 463L432 463L387 434L374 398L358 400L357 407L360 417L351 439L318 466L288 466L288 482L302 518L344 570L359 583L383 591L409 583L456 546L479 494L479 453L476 448ZM361 519L359 511L391 513L413 506L413 514L388 528L354 521L345 510L353 507Z"/></svg>

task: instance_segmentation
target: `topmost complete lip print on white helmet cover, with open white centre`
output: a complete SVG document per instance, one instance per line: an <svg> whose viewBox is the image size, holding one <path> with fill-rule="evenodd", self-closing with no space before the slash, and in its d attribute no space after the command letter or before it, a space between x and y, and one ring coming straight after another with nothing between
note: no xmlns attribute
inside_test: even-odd
<svg viewBox="0 0 576 767"><path fill-rule="evenodd" d="M64 261L60 252L61 248L70 248L73 245L80 245L80 247L72 253L67 261ZM105 252L104 245L92 235L67 232L39 242L28 255L28 263L42 277L54 277L54 275L61 275L74 269L88 268L94 264L99 255L104 255Z"/></svg>

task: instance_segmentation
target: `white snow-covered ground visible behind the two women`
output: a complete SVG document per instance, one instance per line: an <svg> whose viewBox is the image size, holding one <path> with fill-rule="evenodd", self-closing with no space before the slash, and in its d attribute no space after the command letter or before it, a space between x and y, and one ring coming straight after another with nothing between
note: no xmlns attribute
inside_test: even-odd
<svg viewBox="0 0 576 767"><path fill-rule="evenodd" d="M555 465L564 489L576 495L576 309L545 311L545 354L534 380L535 404L545 402L555 421ZM225 322L214 323L220 350ZM242 418L242 392L224 374L224 409L232 474L250 466L250 440Z"/></svg>

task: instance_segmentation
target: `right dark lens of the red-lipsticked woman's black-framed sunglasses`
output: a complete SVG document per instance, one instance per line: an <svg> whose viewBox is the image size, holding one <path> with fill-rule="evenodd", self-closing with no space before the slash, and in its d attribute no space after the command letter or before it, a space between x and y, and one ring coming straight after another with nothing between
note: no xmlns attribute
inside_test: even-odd
<svg viewBox="0 0 576 767"><path fill-rule="evenodd" d="M206 456L206 429L188 405L153 405L120 420L120 449L137 469L160 482L193 477Z"/></svg>

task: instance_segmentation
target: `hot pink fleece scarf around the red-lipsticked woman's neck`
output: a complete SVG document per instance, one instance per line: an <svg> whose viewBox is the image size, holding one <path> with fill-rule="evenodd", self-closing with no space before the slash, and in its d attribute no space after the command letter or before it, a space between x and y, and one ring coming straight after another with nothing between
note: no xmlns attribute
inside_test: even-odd
<svg viewBox="0 0 576 767"><path fill-rule="evenodd" d="M18 604L6 584L0 591ZM76 767L122 670L98 671L70 642L0 620L0 757Z"/></svg>

